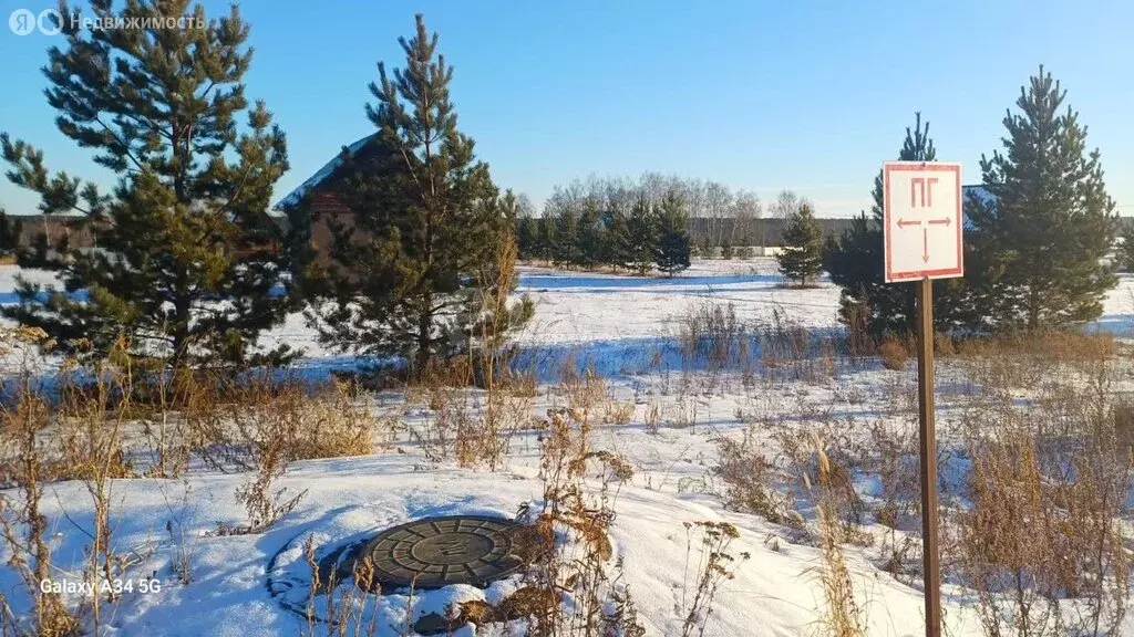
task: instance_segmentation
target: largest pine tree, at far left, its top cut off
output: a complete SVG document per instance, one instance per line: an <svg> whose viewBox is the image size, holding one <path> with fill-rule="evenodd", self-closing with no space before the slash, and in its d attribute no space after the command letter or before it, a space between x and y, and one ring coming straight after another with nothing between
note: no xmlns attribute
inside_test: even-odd
<svg viewBox="0 0 1134 637"><path fill-rule="evenodd" d="M184 18L188 0L137 0L115 10L92 0L103 24L139 16ZM8 317L42 328L65 351L107 354L126 337L137 356L174 366L253 358L257 334L282 320L294 296L278 294L287 270L281 232L268 214L287 170L284 133L262 102L251 109L244 75L248 25L236 7L204 28L86 29L60 5L61 46L43 68L60 131L94 148L118 175L110 193L43 154L0 136L9 177L40 195L44 214L77 211L98 250L54 241L44 255L64 289L22 281ZM197 5L187 24L204 24ZM237 124L246 111L243 134ZM45 253L45 250L44 250ZM85 290L87 299L73 294ZM269 353L273 360L286 348ZM259 357L256 357L259 358Z"/></svg>

